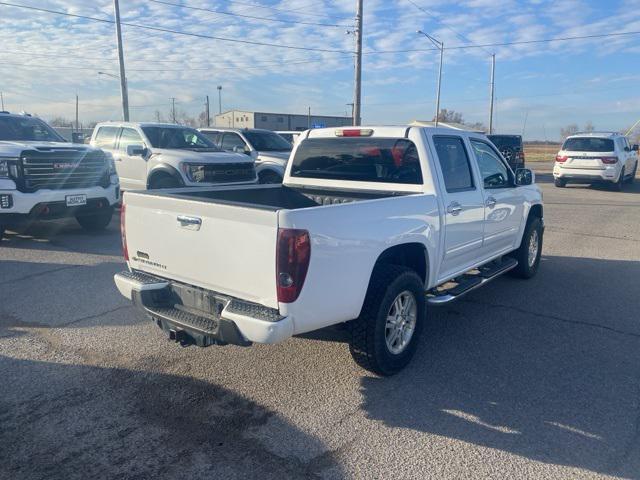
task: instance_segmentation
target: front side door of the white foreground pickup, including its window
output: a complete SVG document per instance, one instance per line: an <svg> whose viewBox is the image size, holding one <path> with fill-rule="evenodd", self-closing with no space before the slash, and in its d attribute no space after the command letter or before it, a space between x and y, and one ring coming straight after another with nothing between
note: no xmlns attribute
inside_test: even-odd
<svg viewBox="0 0 640 480"><path fill-rule="evenodd" d="M478 138L470 138L470 143L484 197L482 256L495 256L517 247L525 199L522 190L515 186L513 172L493 145Z"/></svg>

